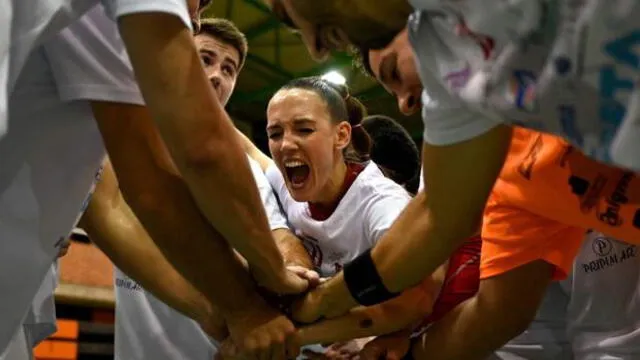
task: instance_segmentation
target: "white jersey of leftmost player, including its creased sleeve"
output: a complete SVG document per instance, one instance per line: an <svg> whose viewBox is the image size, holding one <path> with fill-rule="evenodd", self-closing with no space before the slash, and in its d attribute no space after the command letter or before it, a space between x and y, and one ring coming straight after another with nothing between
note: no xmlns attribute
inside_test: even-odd
<svg viewBox="0 0 640 360"><path fill-rule="evenodd" d="M98 6L35 49L16 83L12 130L0 140L0 284L11 289L0 297L0 349L23 322L104 157L83 100L142 104L126 60Z"/></svg>

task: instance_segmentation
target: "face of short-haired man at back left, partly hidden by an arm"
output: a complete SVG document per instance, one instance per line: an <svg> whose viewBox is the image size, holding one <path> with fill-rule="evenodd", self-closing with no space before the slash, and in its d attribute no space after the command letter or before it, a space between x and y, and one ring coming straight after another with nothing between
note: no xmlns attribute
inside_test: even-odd
<svg viewBox="0 0 640 360"><path fill-rule="evenodd" d="M200 33L195 36L196 47L202 59L202 66L218 99L227 104L240 71L240 53L233 46L215 37Z"/></svg>

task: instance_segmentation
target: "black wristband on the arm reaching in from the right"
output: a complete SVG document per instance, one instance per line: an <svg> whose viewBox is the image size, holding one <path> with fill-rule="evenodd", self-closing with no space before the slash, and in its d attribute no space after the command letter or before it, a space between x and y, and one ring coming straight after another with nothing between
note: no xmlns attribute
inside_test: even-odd
<svg viewBox="0 0 640 360"><path fill-rule="evenodd" d="M371 258L371 249L347 263L343 274L351 296L360 305L379 304L399 294L390 292L382 283L378 269Z"/></svg>

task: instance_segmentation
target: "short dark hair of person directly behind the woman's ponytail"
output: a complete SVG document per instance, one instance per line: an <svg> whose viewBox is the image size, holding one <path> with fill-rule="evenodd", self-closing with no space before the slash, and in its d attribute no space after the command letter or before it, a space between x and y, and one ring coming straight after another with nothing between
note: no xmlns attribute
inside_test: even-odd
<svg viewBox="0 0 640 360"><path fill-rule="evenodd" d="M412 194L420 184L420 153L411 135L394 119L371 115L362 121L372 139L371 160Z"/></svg>

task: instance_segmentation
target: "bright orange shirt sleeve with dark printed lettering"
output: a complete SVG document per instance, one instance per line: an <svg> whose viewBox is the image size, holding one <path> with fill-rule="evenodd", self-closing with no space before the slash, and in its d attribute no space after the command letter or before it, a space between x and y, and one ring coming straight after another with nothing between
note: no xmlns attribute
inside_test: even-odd
<svg viewBox="0 0 640 360"><path fill-rule="evenodd" d="M481 278L543 259L570 271L587 229L640 243L640 180L552 135L515 128L485 208Z"/></svg>

